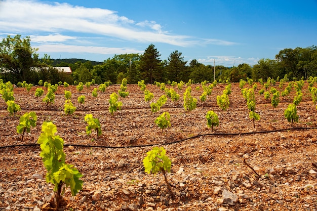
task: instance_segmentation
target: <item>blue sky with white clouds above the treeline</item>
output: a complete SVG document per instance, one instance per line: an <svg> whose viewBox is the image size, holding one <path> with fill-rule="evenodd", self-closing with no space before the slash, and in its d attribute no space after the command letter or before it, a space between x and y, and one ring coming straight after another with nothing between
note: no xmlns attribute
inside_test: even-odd
<svg viewBox="0 0 317 211"><path fill-rule="evenodd" d="M233 66L317 45L317 1L0 0L0 38L30 36L40 57L104 61L153 44L167 60Z"/></svg>

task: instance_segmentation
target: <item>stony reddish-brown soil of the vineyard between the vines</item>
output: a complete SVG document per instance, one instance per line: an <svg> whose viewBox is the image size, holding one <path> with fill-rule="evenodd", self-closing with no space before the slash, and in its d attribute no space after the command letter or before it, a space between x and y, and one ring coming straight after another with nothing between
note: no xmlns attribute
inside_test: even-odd
<svg viewBox="0 0 317 211"><path fill-rule="evenodd" d="M44 96L34 97L36 87L30 92L14 89L15 102L22 108L16 117L0 100L0 210L40 210L54 195L53 185L45 181L39 146L5 147L36 143L44 121L57 125L57 135L67 144L66 162L84 175L83 190L77 195L71 196L66 188L65 210L317 210L317 169L312 165L317 162L317 111L307 83L297 106L299 122L293 125L284 117L284 110L295 91L286 99L281 97L273 109L258 94L262 88L258 85L256 112L261 119L255 129L239 83L232 83L230 106L223 112L216 97L225 85L217 85L204 104L199 100L203 91L197 91L197 86L192 85L197 108L189 114L183 108L185 87L177 90L181 97L176 105L169 99L159 112L151 114L143 92L137 85L128 85L130 95L121 99L122 110L113 116L108 99L120 85L98 93L97 99L91 95L97 86L85 87L81 93L74 86L59 87L55 103L48 106L42 102ZM277 85L275 88L279 90ZM73 115L63 111L65 89L72 92L77 107ZM153 85L147 89L155 101L164 94ZM77 97L82 94L86 103L80 107ZM213 132L205 117L209 110L219 115L219 126ZM29 111L36 112L37 125L21 142L16 126L19 117ZM161 134L154 120L164 111L170 113L172 125ZM100 120L99 139L95 132L86 135L84 116L88 113ZM154 145L164 146L172 160L172 172L167 175L172 192L161 173L144 173L142 160Z"/></svg>

